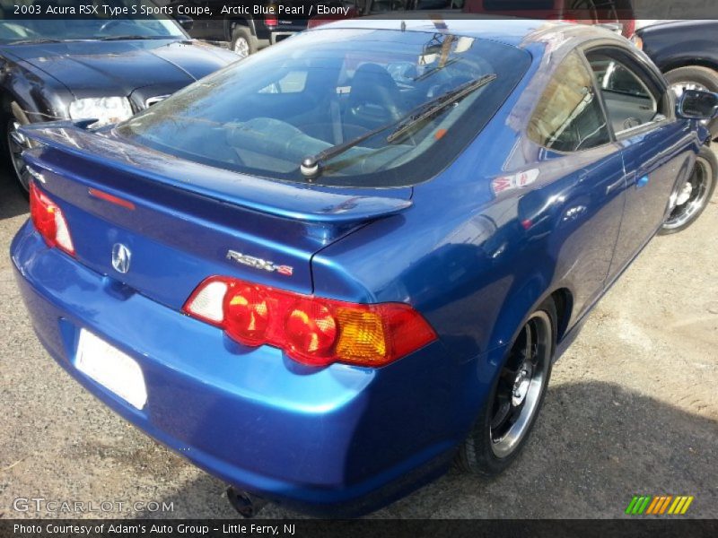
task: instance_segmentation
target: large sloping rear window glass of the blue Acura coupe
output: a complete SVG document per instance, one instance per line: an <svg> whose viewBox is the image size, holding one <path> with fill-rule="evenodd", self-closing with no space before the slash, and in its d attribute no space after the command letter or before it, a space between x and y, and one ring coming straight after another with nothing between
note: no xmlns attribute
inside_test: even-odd
<svg viewBox="0 0 718 538"><path fill-rule="evenodd" d="M518 48L442 32L314 30L189 86L118 133L265 178L407 186L453 161L528 65ZM309 158L321 159L320 174L302 174Z"/></svg>

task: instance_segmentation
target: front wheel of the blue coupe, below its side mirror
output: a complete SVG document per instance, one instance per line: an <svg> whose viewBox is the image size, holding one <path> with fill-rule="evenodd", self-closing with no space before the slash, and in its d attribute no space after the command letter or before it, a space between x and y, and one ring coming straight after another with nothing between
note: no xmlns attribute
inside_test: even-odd
<svg viewBox="0 0 718 538"><path fill-rule="evenodd" d="M696 155L696 166L684 184L685 187L674 195L677 197L676 206L663 222L659 234L677 233L693 224L710 203L715 192L716 179L718 159L710 148L702 146Z"/></svg>

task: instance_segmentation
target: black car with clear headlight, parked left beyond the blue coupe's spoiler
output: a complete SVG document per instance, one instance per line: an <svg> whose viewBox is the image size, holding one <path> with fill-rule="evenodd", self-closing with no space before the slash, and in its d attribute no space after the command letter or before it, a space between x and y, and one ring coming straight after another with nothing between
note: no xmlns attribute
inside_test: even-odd
<svg viewBox="0 0 718 538"><path fill-rule="evenodd" d="M151 0L105 4L138 13L156 8ZM58 10L57 2L0 0L0 164L23 195L31 176L22 161L30 146L21 126L90 116L117 123L237 61L228 50L189 39L187 17L181 24L160 16L109 17L99 6L98 13L63 20L46 13Z"/></svg>

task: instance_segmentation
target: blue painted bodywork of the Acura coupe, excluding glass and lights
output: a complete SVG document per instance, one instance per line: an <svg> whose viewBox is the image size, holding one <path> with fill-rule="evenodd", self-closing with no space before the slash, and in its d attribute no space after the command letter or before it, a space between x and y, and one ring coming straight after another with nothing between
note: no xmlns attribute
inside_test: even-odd
<svg viewBox="0 0 718 538"><path fill-rule="evenodd" d="M128 421L271 499L360 513L441 473L523 320L565 293L557 358L661 225L705 140L695 123L670 119L655 134L572 156L531 143L530 107L565 53L591 39L624 41L565 26L516 36L514 26L512 39L534 57L530 72L466 152L413 188L280 185L178 167L110 132L28 129L47 144L28 160L66 213L83 262L48 249L30 223L14 239L18 282L42 343ZM491 190L492 178L528 169L538 170L529 186ZM181 179L188 175L192 185ZM644 175L651 181L636 188ZM88 187L121 195L136 211L83 195ZM110 266L118 241L133 251L122 276ZM224 255L237 245L294 265L294 278L233 265ZM178 312L215 273L333 299L407 302L440 340L382 369L305 367ZM144 411L74 369L80 327L137 360Z"/></svg>

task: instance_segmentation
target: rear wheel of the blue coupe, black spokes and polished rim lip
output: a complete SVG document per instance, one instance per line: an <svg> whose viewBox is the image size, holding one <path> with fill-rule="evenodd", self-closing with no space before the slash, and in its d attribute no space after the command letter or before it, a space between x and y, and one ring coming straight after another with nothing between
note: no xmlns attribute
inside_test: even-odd
<svg viewBox="0 0 718 538"><path fill-rule="evenodd" d="M530 342L527 342L527 331L531 334ZM527 348L531 350L531 355L535 355L536 363L532 364L528 386L522 386L518 377L526 364ZM503 472L521 453L546 395L555 349L556 305L552 299L547 299L524 322L506 355L486 404L460 446L456 466L461 471L494 476ZM522 379L526 381L526 377L522 376ZM508 391L509 401L506 400L507 388L513 389ZM521 403L516 404L521 393ZM518 418L512 425L510 421L501 421L504 414L513 416L515 410L518 410Z"/></svg>

